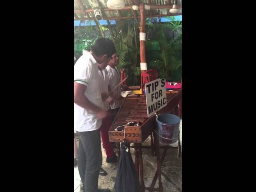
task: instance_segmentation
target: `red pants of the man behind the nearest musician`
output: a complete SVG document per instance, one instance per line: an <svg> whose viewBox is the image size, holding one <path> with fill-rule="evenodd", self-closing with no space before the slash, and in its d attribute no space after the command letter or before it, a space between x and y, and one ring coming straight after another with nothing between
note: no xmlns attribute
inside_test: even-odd
<svg viewBox="0 0 256 192"><path fill-rule="evenodd" d="M108 115L106 118L102 119L102 125L100 126L100 134L102 138L103 146L106 150L107 158L112 158L114 156L114 151L112 144L108 140L108 131L111 126L111 116L110 111L108 111Z"/></svg>

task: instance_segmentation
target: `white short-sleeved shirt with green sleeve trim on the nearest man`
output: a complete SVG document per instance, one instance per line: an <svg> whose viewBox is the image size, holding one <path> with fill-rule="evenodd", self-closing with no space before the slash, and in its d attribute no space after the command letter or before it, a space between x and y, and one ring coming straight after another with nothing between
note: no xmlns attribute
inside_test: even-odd
<svg viewBox="0 0 256 192"><path fill-rule="evenodd" d="M90 52L85 52L74 65L74 82L87 86L84 95L98 107L102 107L98 65ZM79 132L93 131L100 128L102 120L91 110L74 103L74 130Z"/></svg>

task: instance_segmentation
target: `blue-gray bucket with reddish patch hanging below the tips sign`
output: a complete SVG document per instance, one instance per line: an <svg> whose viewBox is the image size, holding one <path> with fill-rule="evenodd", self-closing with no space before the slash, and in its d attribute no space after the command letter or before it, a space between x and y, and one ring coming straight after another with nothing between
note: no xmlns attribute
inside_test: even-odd
<svg viewBox="0 0 256 192"><path fill-rule="evenodd" d="M157 115L156 132L160 142L164 144L176 143L180 134L180 118L173 114Z"/></svg>

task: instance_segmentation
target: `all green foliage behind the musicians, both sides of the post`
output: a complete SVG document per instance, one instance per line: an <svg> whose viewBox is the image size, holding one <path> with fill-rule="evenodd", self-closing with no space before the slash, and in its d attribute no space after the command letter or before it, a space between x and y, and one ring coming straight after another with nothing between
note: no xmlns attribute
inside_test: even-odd
<svg viewBox="0 0 256 192"><path fill-rule="evenodd" d="M146 40L146 61L148 69L158 70L160 78L180 82L182 73L182 22L174 16L166 17L170 22L151 23L146 19L146 27L154 33L154 38ZM87 21L88 24L94 21ZM100 26L102 31L108 26ZM165 30L170 29L176 36L166 36ZM119 56L118 70L126 70L129 86L140 85L140 41L137 23L130 20L118 20L112 25L113 34L106 36L113 40ZM74 28L74 43L83 43L89 50L94 41L100 37L97 26L78 26ZM152 49L152 50L151 50Z"/></svg>

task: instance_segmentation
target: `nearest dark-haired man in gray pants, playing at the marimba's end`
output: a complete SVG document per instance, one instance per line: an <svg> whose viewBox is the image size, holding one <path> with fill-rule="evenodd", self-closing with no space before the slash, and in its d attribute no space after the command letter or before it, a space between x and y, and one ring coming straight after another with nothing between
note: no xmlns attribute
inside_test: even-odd
<svg viewBox="0 0 256 192"><path fill-rule="evenodd" d="M98 189L102 166L99 128L107 112L102 109L97 63L108 62L114 52L110 39L99 38L74 66L74 130L79 136L78 170L84 192L110 192Z"/></svg>

